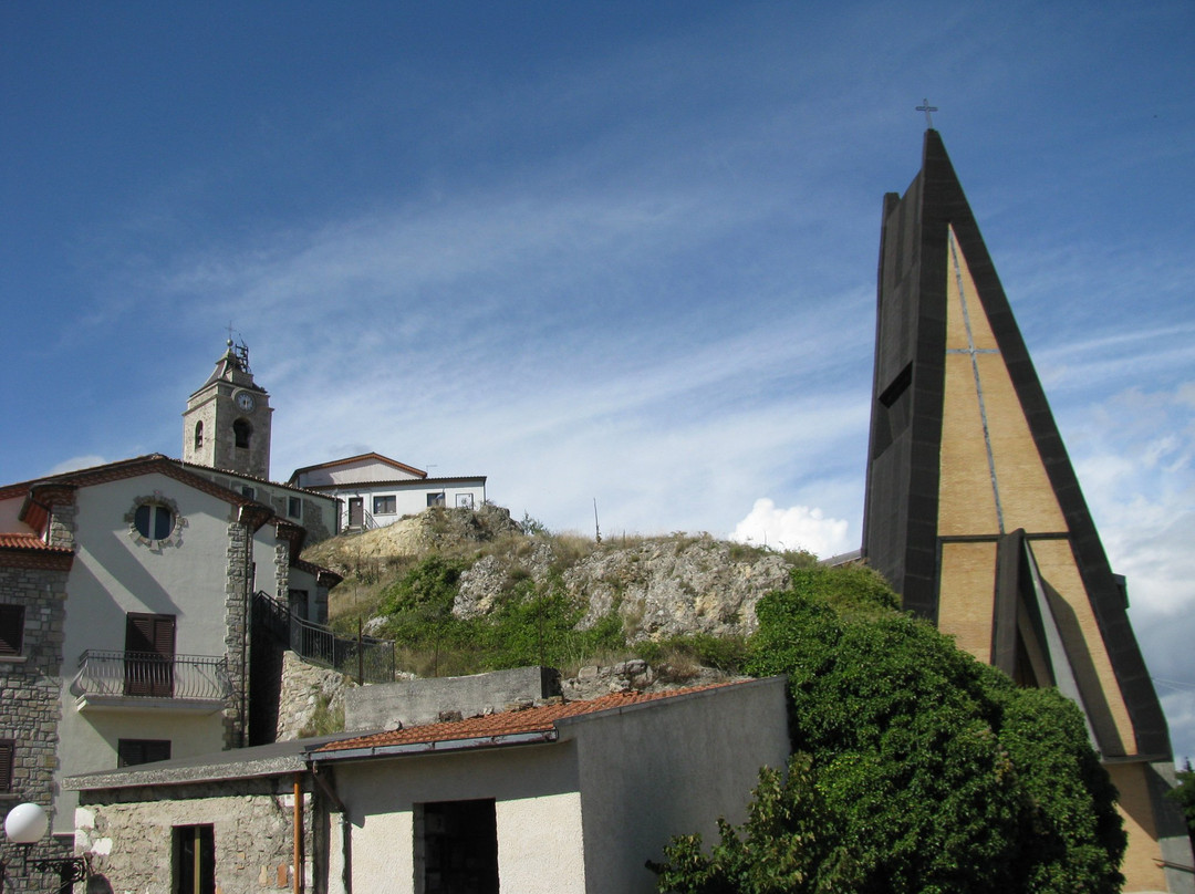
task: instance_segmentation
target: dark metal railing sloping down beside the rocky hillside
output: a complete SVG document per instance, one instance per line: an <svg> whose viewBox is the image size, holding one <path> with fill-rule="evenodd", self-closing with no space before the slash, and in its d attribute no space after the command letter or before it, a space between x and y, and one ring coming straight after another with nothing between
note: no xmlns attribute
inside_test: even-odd
<svg viewBox="0 0 1195 894"><path fill-rule="evenodd" d="M339 636L331 627L305 620L268 593L253 599L255 623L265 624L299 657L351 676L358 684L393 682L394 642L357 633Z"/></svg>

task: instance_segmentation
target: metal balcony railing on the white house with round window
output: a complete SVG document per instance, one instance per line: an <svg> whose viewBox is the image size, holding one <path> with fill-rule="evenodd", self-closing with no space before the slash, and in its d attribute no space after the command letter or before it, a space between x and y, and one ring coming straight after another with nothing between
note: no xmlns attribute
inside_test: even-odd
<svg viewBox="0 0 1195 894"><path fill-rule="evenodd" d="M158 655L88 649L71 684L76 698L172 698L222 702L232 694L228 665L213 655Z"/></svg>

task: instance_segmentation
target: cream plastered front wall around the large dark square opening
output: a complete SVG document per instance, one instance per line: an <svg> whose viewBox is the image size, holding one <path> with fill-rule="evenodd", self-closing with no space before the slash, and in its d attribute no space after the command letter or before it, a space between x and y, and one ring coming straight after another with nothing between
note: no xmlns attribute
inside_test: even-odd
<svg viewBox="0 0 1195 894"><path fill-rule="evenodd" d="M409 894L415 882L416 804L494 798L503 894L584 894L584 847L576 749L521 746L342 764L337 790L348 807L350 877L356 892ZM345 849L332 818L329 892Z"/></svg>

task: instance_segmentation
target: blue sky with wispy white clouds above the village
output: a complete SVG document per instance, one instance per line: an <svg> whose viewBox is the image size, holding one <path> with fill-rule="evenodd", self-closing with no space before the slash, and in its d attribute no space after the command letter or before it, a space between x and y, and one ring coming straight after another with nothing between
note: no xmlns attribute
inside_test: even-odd
<svg viewBox="0 0 1195 894"><path fill-rule="evenodd" d="M0 476L178 455L231 322L275 477L852 549L929 97L1195 757L1195 6L0 6Z"/></svg>

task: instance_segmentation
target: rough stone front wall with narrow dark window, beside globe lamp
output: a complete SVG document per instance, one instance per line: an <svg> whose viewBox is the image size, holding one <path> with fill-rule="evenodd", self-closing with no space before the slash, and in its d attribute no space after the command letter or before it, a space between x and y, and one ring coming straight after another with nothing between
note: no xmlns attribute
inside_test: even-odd
<svg viewBox="0 0 1195 894"><path fill-rule="evenodd" d="M238 779L151 790L81 792L75 850L87 861L88 890L168 892L178 826L213 826L216 890L289 890L294 878L292 777ZM235 795L232 794L235 790ZM302 795L305 889L312 890L312 796ZM104 884L106 882L106 886Z"/></svg>

